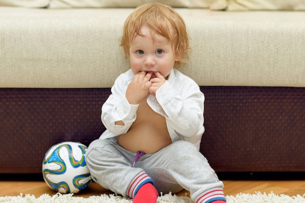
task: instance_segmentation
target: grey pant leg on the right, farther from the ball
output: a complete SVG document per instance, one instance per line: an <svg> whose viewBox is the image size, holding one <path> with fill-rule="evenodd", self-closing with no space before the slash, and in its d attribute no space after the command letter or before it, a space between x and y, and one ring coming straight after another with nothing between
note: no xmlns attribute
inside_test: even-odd
<svg viewBox="0 0 305 203"><path fill-rule="evenodd" d="M159 152L144 156L136 166L153 179L158 192L179 191L178 184L191 192L194 201L209 202L218 196L224 198L223 183L207 159L188 141L175 141Z"/></svg>

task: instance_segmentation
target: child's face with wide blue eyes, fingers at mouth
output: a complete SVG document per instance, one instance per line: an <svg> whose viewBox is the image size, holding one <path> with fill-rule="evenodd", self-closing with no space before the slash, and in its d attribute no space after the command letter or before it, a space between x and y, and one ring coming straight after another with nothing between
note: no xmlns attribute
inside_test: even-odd
<svg viewBox="0 0 305 203"><path fill-rule="evenodd" d="M171 73L175 61L179 60L172 49L172 43L146 26L142 27L141 34L144 36L136 35L129 48L133 73L160 72L166 78Z"/></svg>

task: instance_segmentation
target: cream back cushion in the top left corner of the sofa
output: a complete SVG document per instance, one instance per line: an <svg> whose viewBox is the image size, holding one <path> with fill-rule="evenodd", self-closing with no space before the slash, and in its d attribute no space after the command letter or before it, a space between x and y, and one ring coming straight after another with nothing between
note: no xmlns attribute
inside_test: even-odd
<svg viewBox="0 0 305 203"><path fill-rule="evenodd" d="M44 8L49 5L50 0L0 0L0 6L21 6Z"/></svg>

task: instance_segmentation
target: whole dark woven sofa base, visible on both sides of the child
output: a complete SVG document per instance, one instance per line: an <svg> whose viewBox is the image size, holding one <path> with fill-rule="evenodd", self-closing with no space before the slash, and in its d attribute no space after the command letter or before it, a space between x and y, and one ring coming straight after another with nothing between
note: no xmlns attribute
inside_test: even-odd
<svg viewBox="0 0 305 203"><path fill-rule="evenodd" d="M305 88L201 87L201 152L216 172L305 172ZM89 145L105 130L110 88L0 88L0 173L40 173L62 141Z"/></svg>

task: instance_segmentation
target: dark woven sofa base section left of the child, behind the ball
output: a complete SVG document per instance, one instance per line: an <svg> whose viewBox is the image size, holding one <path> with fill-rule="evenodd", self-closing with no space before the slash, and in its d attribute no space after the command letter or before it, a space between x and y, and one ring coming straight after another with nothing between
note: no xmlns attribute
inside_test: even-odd
<svg viewBox="0 0 305 203"><path fill-rule="evenodd" d="M58 142L88 146L104 131L101 106L109 94L109 89L0 89L0 172L41 172L45 152Z"/></svg>

